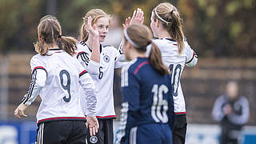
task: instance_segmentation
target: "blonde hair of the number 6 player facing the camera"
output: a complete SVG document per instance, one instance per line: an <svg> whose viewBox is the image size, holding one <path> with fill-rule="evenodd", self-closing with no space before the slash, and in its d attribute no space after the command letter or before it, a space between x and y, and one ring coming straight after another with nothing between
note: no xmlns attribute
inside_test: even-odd
<svg viewBox="0 0 256 144"><path fill-rule="evenodd" d="M110 14L106 14L103 10L101 9L92 9L90 11L88 11L85 15L83 19L83 23L80 29L80 37L81 40L86 42L88 39L89 34L86 31L86 25L87 25L87 21L88 18L91 16L91 18L93 18L93 22L91 23L92 25L95 24L95 22L97 21L98 18L102 18L102 17L106 17L109 18L110 20Z"/></svg>

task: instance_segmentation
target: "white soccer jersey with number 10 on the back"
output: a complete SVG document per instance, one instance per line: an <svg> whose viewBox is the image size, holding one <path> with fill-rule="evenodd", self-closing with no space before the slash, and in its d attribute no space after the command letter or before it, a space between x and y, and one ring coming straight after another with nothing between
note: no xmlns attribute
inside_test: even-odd
<svg viewBox="0 0 256 144"><path fill-rule="evenodd" d="M174 112L175 114L186 114L186 104L180 79L184 66L195 66L198 62L198 56L190 48L186 40L184 41L185 46L182 54L178 54L178 43L171 38L154 39L153 42L161 51L162 62L169 68L172 74Z"/></svg>

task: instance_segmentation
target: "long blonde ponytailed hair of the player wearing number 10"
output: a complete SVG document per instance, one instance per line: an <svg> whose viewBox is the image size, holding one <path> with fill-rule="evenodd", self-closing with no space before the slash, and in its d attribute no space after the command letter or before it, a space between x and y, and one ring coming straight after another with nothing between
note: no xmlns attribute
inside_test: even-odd
<svg viewBox="0 0 256 144"><path fill-rule="evenodd" d="M178 54L184 49L184 34L182 30L182 19L175 6L168 2L160 3L153 10L154 21L158 19L168 31L171 38L178 42Z"/></svg>

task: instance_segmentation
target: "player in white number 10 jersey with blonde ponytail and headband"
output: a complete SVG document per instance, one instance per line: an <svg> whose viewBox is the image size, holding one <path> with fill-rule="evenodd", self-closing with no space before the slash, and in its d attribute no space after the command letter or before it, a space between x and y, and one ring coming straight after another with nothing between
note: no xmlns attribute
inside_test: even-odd
<svg viewBox="0 0 256 144"><path fill-rule="evenodd" d="M184 66L195 66L198 56L190 48L182 30L182 22L176 7L168 2L160 3L152 10L150 27L153 42L159 47L162 61L172 74L171 82L174 91L175 124L173 130L174 144L185 143L186 106L182 94L180 78Z"/></svg>

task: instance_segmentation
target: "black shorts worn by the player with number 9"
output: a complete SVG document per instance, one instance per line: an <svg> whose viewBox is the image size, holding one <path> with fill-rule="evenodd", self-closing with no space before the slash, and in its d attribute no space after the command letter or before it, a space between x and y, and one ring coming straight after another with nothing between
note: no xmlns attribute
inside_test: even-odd
<svg viewBox="0 0 256 144"><path fill-rule="evenodd" d="M85 121L42 122L38 125L37 144L85 144Z"/></svg>

